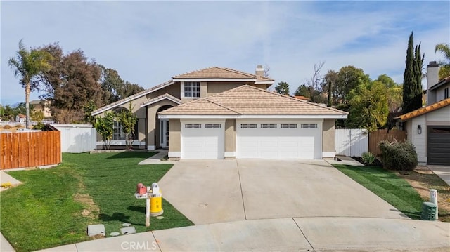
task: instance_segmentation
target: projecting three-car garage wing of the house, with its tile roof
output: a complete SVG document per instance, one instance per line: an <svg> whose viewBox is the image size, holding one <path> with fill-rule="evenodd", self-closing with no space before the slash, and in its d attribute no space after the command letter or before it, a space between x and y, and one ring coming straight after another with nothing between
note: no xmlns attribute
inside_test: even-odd
<svg viewBox="0 0 450 252"><path fill-rule="evenodd" d="M238 86L159 113L169 119L169 158L335 157L335 119L347 112Z"/></svg>

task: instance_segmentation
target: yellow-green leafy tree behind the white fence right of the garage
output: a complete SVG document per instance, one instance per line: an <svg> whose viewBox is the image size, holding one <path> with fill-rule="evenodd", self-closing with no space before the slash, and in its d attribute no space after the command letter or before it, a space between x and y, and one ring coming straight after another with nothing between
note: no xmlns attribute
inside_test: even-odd
<svg viewBox="0 0 450 252"><path fill-rule="evenodd" d="M361 84L349 93L347 128L366 128L369 132L385 126L387 115L386 87L380 81Z"/></svg>

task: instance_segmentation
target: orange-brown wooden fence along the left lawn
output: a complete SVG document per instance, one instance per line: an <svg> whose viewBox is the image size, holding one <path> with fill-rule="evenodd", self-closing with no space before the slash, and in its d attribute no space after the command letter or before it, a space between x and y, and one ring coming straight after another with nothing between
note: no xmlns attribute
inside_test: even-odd
<svg viewBox="0 0 450 252"><path fill-rule="evenodd" d="M60 131L0 133L0 169L61 162Z"/></svg>

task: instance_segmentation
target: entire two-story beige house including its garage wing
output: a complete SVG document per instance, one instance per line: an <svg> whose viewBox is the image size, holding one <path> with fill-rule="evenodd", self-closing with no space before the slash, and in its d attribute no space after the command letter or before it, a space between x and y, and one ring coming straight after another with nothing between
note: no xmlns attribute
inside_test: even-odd
<svg viewBox="0 0 450 252"><path fill-rule="evenodd" d="M139 118L136 148L168 148L172 159L321 159L334 157L335 119L347 112L267 91L274 80L210 67L172 77L93 112L127 110ZM115 123L112 145L124 145ZM101 145L99 140L98 145Z"/></svg>

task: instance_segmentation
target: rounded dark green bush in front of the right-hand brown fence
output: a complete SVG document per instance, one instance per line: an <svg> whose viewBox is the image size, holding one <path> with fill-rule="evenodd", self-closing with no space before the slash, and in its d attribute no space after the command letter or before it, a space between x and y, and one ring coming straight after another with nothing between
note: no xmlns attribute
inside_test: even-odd
<svg viewBox="0 0 450 252"><path fill-rule="evenodd" d="M387 140L378 143L381 150L381 162L390 170L412 171L417 166L417 152L414 145L409 142L389 142Z"/></svg>

